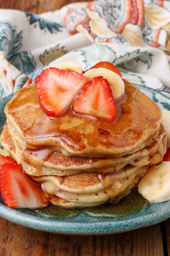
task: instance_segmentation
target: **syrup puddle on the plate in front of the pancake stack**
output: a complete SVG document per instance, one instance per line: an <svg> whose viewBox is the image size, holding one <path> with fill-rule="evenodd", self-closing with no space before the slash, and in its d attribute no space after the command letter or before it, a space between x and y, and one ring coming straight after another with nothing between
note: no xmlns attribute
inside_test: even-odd
<svg viewBox="0 0 170 256"><path fill-rule="evenodd" d="M86 207L83 209L62 208L50 205L43 209L38 209L38 214L55 219L68 219L83 212L85 215L95 218L121 218L132 216L145 211L150 203L144 199L136 190L124 196L116 203L107 203L97 207Z"/></svg>

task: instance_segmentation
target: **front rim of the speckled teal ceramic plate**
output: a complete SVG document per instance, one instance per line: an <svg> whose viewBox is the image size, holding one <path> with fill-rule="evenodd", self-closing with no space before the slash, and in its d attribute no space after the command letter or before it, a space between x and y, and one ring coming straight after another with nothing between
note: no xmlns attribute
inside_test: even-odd
<svg viewBox="0 0 170 256"><path fill-rule="evenodd" d="M167 206L165 209L162 209L158 212L153 212L148 215L136 215L136 217L135 215L132 215L133 218L128 220L113 221L108 219L108 221L98 222L75 222L57 219L44 219L20 212L17 209L8 208L7 206L0 203L0 216L16 224L40 231L56 234L87 236L123 233L158 224L170 217L170 207ZM122 228L122 226L124 228ZM111 228L113 229L111 230Z"/></svg>

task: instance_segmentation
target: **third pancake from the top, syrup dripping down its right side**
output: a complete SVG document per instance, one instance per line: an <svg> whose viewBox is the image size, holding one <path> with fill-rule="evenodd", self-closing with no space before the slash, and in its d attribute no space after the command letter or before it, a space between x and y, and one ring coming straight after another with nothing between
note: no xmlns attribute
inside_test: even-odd
<svg viewBox="0 0 170 256"><path fill-rule="evenodd" d="M146 173L149 165L134 167L128 165L120 172L98 174L82 172L69 176L48 175L32 177L49 195L79 203L98 203L115 200L124 195L125 191ZM84 206L85 207L85 206Z"/></svg>

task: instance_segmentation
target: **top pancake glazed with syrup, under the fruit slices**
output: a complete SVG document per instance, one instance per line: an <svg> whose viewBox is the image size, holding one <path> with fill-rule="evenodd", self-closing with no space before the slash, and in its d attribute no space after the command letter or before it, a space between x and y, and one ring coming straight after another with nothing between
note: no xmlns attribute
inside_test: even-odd
<svg viewBox="0 0 170 256"><path fill-rule="evenodd" d="M162 113L158 105L124 80L125 95L116 102L113 122L73 114L48 116L40 107L34 84L21 88L5 107L9 133L30 148L48 146L64 155L89 157L134 153L152 144Z"/></svg>

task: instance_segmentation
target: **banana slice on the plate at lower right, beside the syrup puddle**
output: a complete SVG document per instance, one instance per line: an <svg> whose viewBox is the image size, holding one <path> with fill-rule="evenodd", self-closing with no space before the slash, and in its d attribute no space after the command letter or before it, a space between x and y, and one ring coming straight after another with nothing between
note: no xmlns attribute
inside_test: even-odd
<svg viewBox="0 0 170 256"><path fill-rule="evenodd" d="M170 200L170 162L152 165L140 179L138 192L151 203Z"/></svg>

